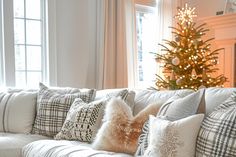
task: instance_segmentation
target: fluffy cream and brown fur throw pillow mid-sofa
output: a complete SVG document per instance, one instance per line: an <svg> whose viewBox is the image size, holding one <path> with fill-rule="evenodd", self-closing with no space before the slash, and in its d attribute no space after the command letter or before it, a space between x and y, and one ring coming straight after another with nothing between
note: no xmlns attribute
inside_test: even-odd
<svg viewBox="0 0 236 157"><path fill-rule="evenodd" d="M143 124L149 115L157 114L159 106L148 105L133 117L130 107L123 100L111 99L106 106L104 122L96 135L93 148L134 154Z"/></svg>

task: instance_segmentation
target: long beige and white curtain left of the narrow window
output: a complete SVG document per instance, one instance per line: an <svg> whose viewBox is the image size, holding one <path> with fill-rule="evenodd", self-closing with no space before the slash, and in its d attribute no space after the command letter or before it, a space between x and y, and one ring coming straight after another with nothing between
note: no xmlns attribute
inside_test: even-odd
<svg viewBox="0 0 236 157"><path fill-rule="evenodd" d="M97 1L98 89L133 86L135 34L133 0Z"/></svg>

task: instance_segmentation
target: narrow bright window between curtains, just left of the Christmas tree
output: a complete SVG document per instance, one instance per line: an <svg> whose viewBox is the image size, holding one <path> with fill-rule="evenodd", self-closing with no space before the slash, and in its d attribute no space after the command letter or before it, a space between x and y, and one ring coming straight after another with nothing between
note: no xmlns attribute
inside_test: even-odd
<svg viewBox="0 0 236 157"><path fill-rule="evenodd" d="M157 64L157 16L154 7L136 5L138 87L154 85Z"/></svg>

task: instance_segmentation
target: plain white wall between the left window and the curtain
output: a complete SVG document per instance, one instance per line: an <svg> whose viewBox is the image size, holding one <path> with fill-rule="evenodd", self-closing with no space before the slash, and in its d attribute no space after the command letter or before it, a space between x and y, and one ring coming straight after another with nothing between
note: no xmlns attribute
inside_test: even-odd
<svg viewBox="0 0 236 157"><path fill-rule="evenodd" d="M55 0L48 9L52 84L95 88L96 1Z"/></svg>

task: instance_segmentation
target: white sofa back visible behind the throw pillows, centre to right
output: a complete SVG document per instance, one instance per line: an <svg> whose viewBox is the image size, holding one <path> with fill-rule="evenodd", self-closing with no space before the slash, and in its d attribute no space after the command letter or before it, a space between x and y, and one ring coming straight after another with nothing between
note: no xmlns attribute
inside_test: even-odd
<svg viewBox="0 0 236 157"><path fill-rule="evenodd" d="M97 91L95 100L101 99L104 95L112 91L118 91L121 89L106 89ZM178 94L181 97L187 96L193 93L193 90L143 90L143 89L133 89L135 92L134 108L133 113L136 115L147 105L152 103L157 103L162 105L170 97ZM207 88L205 90L205 102L206 102L206 113L209 114L214 110L214 108L224 102L236 88ZM191 102L190 102L191 103Z"/></svg>

